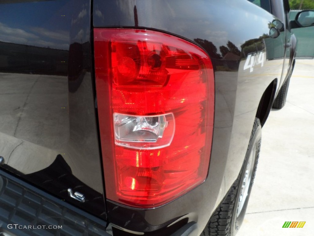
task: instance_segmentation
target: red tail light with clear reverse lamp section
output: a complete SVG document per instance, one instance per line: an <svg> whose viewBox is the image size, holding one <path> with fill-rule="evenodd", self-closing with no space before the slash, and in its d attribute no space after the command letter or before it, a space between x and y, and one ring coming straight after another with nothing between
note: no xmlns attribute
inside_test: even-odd
<svg viewBox="0 0 314 236"><path fill-rule="evenodd" d="M214 73L199 47L165 33L94 29L106 196L151 208L207 176Z"/></svg>

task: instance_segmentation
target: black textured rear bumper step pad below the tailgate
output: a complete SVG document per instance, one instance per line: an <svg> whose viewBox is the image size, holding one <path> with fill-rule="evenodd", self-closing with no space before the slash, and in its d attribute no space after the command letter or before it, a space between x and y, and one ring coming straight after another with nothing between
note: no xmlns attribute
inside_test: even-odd
<svg viewBox="0 0 314 236"><path fill-rule="evenodd" d="M99 235L107 222L0 170L0 235Z"/></svg>

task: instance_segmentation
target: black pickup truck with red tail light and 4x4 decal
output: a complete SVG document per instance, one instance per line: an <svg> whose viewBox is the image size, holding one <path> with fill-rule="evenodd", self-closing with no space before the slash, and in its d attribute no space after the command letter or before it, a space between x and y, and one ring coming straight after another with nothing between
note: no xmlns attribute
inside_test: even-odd
<svg viewBox="0 0 314 236"><path fill-rule="evenodd" d="M307 13L0 1L0 235L235 235Z"/></svg>

